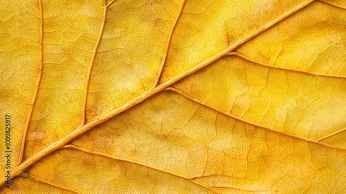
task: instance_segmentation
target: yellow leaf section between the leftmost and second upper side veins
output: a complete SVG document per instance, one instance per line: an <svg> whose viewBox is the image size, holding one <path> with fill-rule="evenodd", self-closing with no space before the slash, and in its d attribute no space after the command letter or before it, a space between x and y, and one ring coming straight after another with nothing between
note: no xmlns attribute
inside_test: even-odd
<svg viewBox="0 0 346 194"><path fill-rule="evenodd" d="M44 67L25 157L81 124L87 73L103 15L101 1L43 1L42 7Z"/></svg>

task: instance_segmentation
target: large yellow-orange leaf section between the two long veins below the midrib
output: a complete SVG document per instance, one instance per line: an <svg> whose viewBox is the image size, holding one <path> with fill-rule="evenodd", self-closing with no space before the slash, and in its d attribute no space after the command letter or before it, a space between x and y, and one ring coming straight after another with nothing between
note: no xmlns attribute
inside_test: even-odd
<svg viewBox="0 0 346 194"><path fill-rule="evenodd" d="M225 193L229 188L244 193L338 193L346 184L345 150L248 125L172 91L149 98L73 144L176 173L173 179L190 177ZM69 168L76 173L84 168L78 169Z"/></svg>

